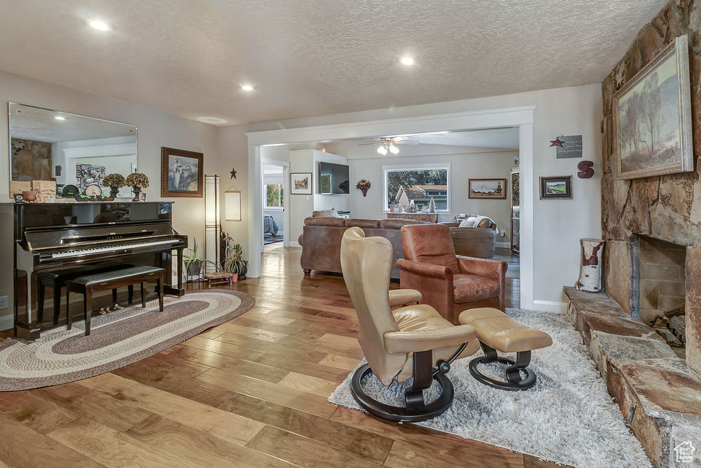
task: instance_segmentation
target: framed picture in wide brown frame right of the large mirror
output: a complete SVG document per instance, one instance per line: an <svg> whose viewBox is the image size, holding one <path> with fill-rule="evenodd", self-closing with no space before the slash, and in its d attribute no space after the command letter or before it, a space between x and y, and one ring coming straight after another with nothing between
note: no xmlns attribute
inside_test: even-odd
<svg viewBox="0 0 701 468"><path fill-rule="evenodd" d="M202 196L202 153L161 147L161 196Z"/></svg>

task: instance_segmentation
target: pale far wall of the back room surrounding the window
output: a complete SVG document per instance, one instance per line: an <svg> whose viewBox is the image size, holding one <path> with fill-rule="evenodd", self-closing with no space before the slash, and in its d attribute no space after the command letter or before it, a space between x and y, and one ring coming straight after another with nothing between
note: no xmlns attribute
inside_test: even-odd
<svg viewBox="0 0 701 468"><path fill-rule="evenodd" d="M513 151L467 148L447 145L400 145L396 156L378 156L376 146L359 146L358 142L346 141L327 145L329 151L348 158L351 166L351 194L348 208L353 218L382 219L383 211L383 166L426 165L450 166L449 197L450 210L438 213L439 221L451 221L458 213L472 213L489 216L499 230L506 231L505 237L497 242L508 242L510 232L510 177L513 166ZM504 178L507 180L507 193L504 200L468 199L469 178ZM367 196L355 189L358 180L367 179L372 187Z"/></svg>

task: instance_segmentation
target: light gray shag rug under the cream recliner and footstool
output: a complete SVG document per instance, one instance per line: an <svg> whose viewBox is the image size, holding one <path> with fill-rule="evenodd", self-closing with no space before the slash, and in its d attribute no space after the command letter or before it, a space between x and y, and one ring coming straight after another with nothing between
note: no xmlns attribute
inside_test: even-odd
<svg viewBox="0 0 701 468"><path fill-rule="evenodd" d="M477 382L468 363L483 355L479 351L452 365L448 374L455 389L452 406L417 424L573 467L650 467L640 442L608 395L579 332L566 317L519 309L507 309L507 314L552 337L552 346L533 351L529 367L538 376L536 385L508 392ZM513 359L515 355L504 356ZM480 366L482 373L500 380L504 380L504 368L498 363ZM329 401L361 410L351 394L351 375ZM383 387L370 374L363 388L374 399L404 406L404 389L412 380ZM434 381L424 391L424 399L435 400L439 390Z"/></svg>

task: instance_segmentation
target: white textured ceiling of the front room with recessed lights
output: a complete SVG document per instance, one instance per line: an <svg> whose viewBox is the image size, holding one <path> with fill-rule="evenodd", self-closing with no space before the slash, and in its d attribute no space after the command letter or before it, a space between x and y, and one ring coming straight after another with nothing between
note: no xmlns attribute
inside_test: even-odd
<svg viewBox="0 0 701 468"><path fill-rule="evenodd" d="M286 119L599 82L665 3L0 0L0 70L192 119Z"/></svg>

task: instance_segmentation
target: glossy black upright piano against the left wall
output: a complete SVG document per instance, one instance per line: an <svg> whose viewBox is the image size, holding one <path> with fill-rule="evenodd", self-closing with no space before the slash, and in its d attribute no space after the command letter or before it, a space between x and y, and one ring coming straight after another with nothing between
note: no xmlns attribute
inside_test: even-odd
<svg viewBox="0 0 701 468"><path fill-rule="evenodd" d="M184 294L187 236L172 228L170 201L18 203L14 210L15 335L36 339L53 326L50 318L39 321L37 314L37 275L45 272L154 265L165 268L164 293ZM173 250L175 287L170 284Z"/></svg>

